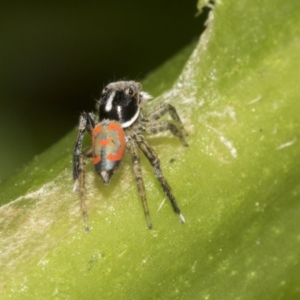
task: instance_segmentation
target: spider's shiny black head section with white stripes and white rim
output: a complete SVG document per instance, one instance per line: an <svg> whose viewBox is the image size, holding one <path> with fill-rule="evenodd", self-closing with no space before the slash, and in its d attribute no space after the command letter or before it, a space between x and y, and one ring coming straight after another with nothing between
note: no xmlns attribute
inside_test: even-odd
<svg viewBox="0 0 300 300"><path fill-rule="evenodd" d="M99 107L99 121L118 121L123 128L132 125L140 114L140 108L152 97L142 91L136 81L117 81L108 84L102 91Z"/></svg>

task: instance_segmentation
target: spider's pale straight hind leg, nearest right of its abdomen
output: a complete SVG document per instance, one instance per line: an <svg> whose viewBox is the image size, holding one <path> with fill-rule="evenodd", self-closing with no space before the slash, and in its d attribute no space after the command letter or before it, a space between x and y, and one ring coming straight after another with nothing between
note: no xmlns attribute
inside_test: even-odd
<svg viewBox="0 0 300 300"><path fill-rule="evenodd" d="M137 189L138 189L138 193L142 199L147 226L149 229L151 229L152 222L151 222L150 214L149 214L149 208L148 208L148 203L147 203L147 198L146 198L145 185L144 185L144 181L143 181L143 177L142 177L142 170L141 170L141 163L140 163L140 157L138 154L138 149L137 149L135 143L130 138L128 138L128 140L127 140L126 148L128 149L128 151L131 155Z"/></svg>

